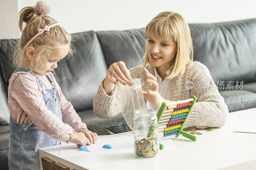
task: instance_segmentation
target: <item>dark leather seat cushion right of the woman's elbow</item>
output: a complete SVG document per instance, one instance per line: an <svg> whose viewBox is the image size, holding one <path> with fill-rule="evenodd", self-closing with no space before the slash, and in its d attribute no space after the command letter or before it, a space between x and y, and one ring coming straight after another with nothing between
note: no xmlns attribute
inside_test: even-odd
<svg viewBox="0 0 256 170"><path fill-rule="evenodd" d="M220 90L229 112L256 107L256 93L245 90Z"/></svg>

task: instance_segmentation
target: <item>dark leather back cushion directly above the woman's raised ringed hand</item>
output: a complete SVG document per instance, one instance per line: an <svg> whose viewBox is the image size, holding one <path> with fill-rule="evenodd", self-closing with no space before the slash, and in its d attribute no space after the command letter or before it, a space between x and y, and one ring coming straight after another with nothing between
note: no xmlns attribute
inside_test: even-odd
<svg viewBox="0 0 256 170"><path fill-rule="evenodd" d="M144 28L127 31L100 31L97 32L97 37L108 67L112 63L123 61L130 69L137 66L144 55L147 37Z"/></svg>

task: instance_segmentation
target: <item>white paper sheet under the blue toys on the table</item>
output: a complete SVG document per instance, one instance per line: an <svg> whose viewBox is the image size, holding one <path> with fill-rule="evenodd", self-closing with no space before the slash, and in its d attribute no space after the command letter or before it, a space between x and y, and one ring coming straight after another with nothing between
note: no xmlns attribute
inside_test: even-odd
<svg viewBox="0 0 256 170"><path fill-rule="evenodd" d="M177 150L170 138L160 141L164 144L163 151ZM102 148L103 145L110 144L112 149ZM67 156L88 156L88 155L105 155L105 154L120 154L120 153L133 153L133 134L115 134L98 136L96 144L87 145L88 150L91 152L80 151L77 149L76 144L61 142L60 157ZM160 150L161 152L162 150Z"/></svg>

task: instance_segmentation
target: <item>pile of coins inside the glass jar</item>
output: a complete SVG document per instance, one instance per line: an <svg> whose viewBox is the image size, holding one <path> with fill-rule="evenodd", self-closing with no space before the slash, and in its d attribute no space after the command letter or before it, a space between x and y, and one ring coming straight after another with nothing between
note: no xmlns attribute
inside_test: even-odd
<svg viewBox="0 0 256 170"><path fill-rule="evenodd" d="M158 145L155 137L145 137L135 140L135 152L139 157L152 157L158 152Z"/></svg>

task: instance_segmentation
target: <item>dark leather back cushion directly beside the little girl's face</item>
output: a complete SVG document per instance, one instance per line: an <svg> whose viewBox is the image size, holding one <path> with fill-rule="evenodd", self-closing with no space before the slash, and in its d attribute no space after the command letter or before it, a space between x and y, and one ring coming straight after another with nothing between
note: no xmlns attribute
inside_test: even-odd
<svg viewBox="0 0 256 170"><path fill-rule="evenodd" d="M68 101L77 112L92 109L92 102L107 65L93 31L72 34L76 49L74 57L58 62L54 77Z"/></svg>

